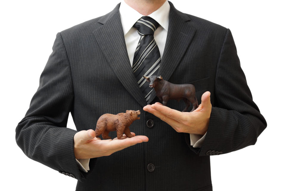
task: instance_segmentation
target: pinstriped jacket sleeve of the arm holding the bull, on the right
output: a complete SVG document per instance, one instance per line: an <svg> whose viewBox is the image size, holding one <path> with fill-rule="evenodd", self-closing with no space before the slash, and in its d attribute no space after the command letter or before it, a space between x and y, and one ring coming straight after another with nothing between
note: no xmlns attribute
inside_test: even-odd
<svg viewBox="0 0 286 191"><path fill-rule="evenodd" d="M215 76L214 103L199 156L219 155L254 145L267 123L252 100L231 31L227 29Z"/></svg>

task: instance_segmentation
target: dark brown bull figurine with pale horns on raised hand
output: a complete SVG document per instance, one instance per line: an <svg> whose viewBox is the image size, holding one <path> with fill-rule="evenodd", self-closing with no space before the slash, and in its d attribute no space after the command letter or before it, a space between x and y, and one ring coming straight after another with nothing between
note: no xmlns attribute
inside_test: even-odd
<svg viewBox="0 0 286 191"><path fill-rule="evenodd" d="M193 108L190 112L198 108L198 100L196 98L195 86L192 84L173 84L166 80L163 80L162 76L143 76L147 82L150 82L149 86L154 88L156 96L167 106L168 100L184 100L186 107L182 112L188 110L190 103Z"/></svg>

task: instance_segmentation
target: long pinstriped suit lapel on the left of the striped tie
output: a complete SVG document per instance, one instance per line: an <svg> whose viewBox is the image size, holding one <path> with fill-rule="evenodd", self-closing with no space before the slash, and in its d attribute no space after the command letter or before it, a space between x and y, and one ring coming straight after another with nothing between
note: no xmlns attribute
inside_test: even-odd
<svg viewBox="0 0 286 191"><path fill-rule="evenodd" d="M120 20L119 5L120 3L113 11L98 21L103 25L95 29L93 34L117 78L137 102L144 107L147 102L130 65Z"/></svg>

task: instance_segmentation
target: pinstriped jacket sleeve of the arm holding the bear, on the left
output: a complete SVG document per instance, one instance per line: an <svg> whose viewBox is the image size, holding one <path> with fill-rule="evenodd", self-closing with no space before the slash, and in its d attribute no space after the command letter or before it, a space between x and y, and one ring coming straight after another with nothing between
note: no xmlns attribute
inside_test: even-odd
<svg viewBox="0 0 286 191"><path fill-rule="evenodd" d="M39 87L16 127L16 142L30 159L83 181L89 173L79 170L74 156L77 131L66 128L73 102L69 60L58 32Z"/></svg>

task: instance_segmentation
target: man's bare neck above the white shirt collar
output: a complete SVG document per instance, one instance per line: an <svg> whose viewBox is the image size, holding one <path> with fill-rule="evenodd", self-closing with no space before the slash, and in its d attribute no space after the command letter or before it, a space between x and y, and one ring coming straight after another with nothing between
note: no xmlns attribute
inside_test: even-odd
<svg viewBox="0 0 286 191"><path fill-rule="evenodd" d="M147 16L160 8L166 0L124 0L126 4Z"/></svg>

